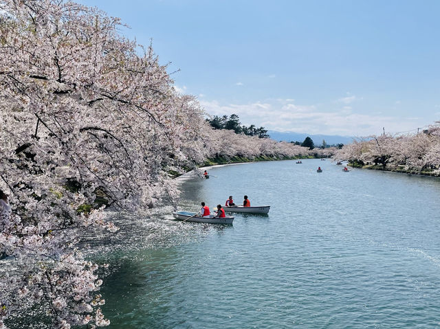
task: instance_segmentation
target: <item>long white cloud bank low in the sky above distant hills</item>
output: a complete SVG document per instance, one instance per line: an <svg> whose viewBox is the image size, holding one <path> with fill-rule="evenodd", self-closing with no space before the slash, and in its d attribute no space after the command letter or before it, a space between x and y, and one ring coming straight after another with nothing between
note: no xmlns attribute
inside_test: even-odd
<svg viewBox="0 0 440 329"><path fill-rule="evenodd" d="M255 124L274 131L296 133L368 136L382 133L382 127L390 133L410 131L420 126L414 117L394 117L377 113L356 113L351 106L324 111L324 105L299 105L294 102L252 102L249 104L220 104L217 101L201 101L210 115L239 115L245 125Z"/></svg>

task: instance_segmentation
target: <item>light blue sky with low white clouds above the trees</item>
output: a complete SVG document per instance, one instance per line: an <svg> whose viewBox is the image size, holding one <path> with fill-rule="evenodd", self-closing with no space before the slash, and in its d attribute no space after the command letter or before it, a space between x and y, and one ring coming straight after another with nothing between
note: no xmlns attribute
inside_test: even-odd
<svg viewBox="0 0 440 329"><path fill-rule="evenodd" d="M170 62L210 115L367 136L440 120L440 1L81 0Z"/></svg>

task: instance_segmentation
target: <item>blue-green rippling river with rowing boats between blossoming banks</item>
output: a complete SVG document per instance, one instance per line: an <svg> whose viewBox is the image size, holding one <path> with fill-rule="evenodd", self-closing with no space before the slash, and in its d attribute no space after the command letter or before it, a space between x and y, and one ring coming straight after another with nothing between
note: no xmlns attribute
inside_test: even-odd
<svg viewBox="0 0 440 329"><path fill-rule="evenodd" d="M182 181L179 209L247 194L269 214L127 226L126 247L100 256L109 328L440 326L439 179L319 159L209 173Z"/></svg>

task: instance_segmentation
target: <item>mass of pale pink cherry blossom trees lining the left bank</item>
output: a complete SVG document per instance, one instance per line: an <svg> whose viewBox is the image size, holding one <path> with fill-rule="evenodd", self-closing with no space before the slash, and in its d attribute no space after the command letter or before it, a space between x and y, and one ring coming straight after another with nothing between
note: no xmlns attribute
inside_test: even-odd
<svg viewBox="0 0 440 329"><path fill-rule="evenodd" d="M0 209L0 328L23 305L53 328L109 324L79 243L87 229L118 230L105 208L173 204L169 173L208 157L308 154L212 130L153 48L118 27L70 1L0 1L0 190L12 208Z"/></svg>

